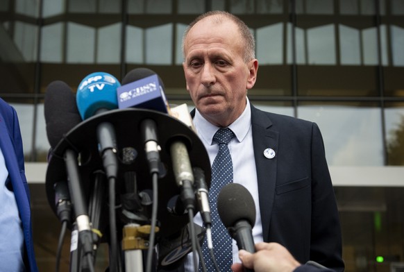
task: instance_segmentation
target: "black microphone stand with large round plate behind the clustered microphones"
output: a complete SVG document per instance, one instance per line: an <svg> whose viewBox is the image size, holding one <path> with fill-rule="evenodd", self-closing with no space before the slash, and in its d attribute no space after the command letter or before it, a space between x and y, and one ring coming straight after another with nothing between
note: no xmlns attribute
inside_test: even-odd
<svg viewBox="0 0 404 272"><path fill-rule="evenodd" d="M141 124L145 119L151 119L157 126L158 144L161 147L160 162L167 169L165 175L158 175L158 188L153 192L153 182L151 173L147 171L149 164L144 151L144 139L142 139ZM106 188L105 169L103 167L103 158L99 153L98 140L96 139L96 130L99 124L108 122L115 129L117 135L117 157L119 171L117 173L115 187L117 196L117 219L114 222L117 226L117 238L122 242L119 249L123 250L124 263L127 266L126 271L143 271L142 256L144 248L154 247L161 239L171 237L179 230L185 228L187 223L193 217L193 212L182 215L173 215L167 209L169 200L181 194L178 188L169 148L174 139L183 139L187 146L187 151L190 156L192 167L199 167L205 172L207 184L210 185L210 161L205 146L186 124L168 114L155 112L153 110L140 110L128 108L124 110L110 110L82 121L80 124L72 128L58 145L53 148L51 159L49 160L46 177L47 198L51 209L56 214L56 205L54 202L55 192L53 185L55 180L67 180L69 177L69 189L81 188L79 194L71 192L72 204L74 207L75 216L84 214L89 216L88 223L85 223L85 228L81 226L81 220L76 220L78 228L78 237L85 236L83 240L90 241L89 243L78 243L77 250L71 252L71 271L80 271L79 266L90 263L94 264L96 248L99 243L108 242L108 235L101 237L99 235L108 228L108 220L105 218L108 212L102 212L107 206L105 199L108 197L108 189ZM137 151L135 162L126 163L119 158L121 150L132 148ZM71 170L73 169L73 171ZM135 189L123 189L126 173L135 172L137 181ZM71 180L76 180L74 184ZM134 195L140 195L142 192L151 191L158 198L156 209L157 224L155 228L151 228L151 211L150 203L142 204L144 210L129 210L124 209L122 205L123 192L135 192ZM138 193L140 192L140 193ZM193 192L190 190L190 192ZM74 196L80 196L79 198ZM87 207L88 200L88 207ZM153 202L153 199L151 199ZM85 203L81 206L79 203ZM81 207L84 208L81 208ZM189 217L190 216L190 217ZM105 219L105 220L104 220ZM112 223L112 222L110 222ZM115 227L115 226L114 226ZM74 226L71 227L73 232ZM194 232L193 229L191 229ZM83 232L83 233L80 233ZM94 233L95 232L95 233ZM150 244L148 238L153 233L157 233L155 244ZM72 233L73 234L73 233ZM79 238L80 241L80 238ZM134 241L137 241L136 243ZM72 241L72 244L75 241ZM195 248L195 242L193 242ZM90 254L91 252L91 254ZM86 256L87 260L82 259ZM118 263L119 271L125 269L122 264ZM91 267L90 267L91 271Z"/></svg>

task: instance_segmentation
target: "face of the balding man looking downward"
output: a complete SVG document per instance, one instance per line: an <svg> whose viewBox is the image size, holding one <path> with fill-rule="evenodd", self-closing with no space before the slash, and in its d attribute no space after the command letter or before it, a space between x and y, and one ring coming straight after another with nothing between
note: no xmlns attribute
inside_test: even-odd
<svg viewBox="0 0 404 272"><path fill-rule="evenodd" d="M244 62L244 42L235 23L196 23L184 42L187 90L203 117L226 127L246 107L246 93L255 83L258 61Z"/></svg>

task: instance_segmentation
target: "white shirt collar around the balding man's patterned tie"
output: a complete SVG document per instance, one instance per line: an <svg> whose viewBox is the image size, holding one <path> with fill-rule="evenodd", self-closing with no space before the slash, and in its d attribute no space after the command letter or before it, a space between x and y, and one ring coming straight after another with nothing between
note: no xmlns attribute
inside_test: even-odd
<svg viewBox="0 0 404 272"><path fill-rule="evenodd" d="M249 98L246 98L246 108L242 112L242 114L237 118L228 128L233 130L235 137L238 142L242 142L246 137L247 133L251 128L251 107ZM198 110L195 110L194 124L198 130L199 137L202 137L203 140L210 145L213 143L214 133L219 129L218 126L214 126L208 120L203 118L201 113Z"/></svg>

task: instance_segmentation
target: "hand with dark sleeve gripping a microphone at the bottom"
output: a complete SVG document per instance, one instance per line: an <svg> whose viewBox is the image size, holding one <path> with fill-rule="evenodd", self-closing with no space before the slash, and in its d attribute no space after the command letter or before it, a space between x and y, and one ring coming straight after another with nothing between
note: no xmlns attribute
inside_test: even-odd
<svg viewBox="0 0 404 272"><path fill-rule="evenodd" d="M255 244L255 253L239 250L239 259L242 263L234 263L231 269L234 272L244 272L244 268L253 269L254 272L333 272L317 262L301 264L278 243Z"/></svg>

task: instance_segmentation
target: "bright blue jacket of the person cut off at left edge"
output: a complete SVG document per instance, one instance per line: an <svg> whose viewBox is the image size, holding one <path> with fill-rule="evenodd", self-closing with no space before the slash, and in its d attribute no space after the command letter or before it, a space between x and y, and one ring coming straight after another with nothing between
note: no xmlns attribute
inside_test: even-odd
<svg viewBox="0 0 404 272"><path fill-rule="evenodd" d="M30 195L24 170L24 153L19 122L15 109L3 99L0 99L0 148L6 161L22 220L25 241L24 263L27 271L37 271L33 249Z"/></svg>

